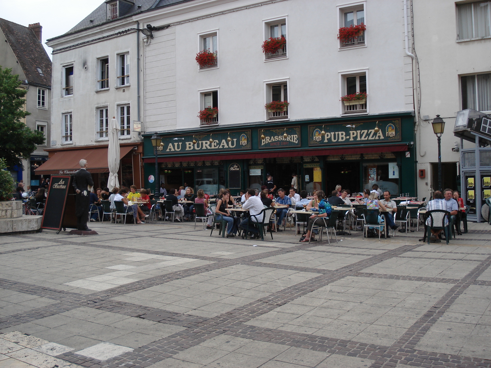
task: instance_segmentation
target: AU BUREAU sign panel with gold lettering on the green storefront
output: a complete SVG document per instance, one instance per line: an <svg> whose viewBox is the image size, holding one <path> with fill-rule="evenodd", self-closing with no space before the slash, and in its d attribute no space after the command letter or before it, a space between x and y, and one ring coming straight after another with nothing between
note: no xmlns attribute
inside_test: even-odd
<svg viewBox="0 0 491 368"><path fill-rule="evenodd" d="M159 154L176 154L250 150L252 148L250 136L250 130L164 136L163 145L158 148L158 151Z"/></svg>

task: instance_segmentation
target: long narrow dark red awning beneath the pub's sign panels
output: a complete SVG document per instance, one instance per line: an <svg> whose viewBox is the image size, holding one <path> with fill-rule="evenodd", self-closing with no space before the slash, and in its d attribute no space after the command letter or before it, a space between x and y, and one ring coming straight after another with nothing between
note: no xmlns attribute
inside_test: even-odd
<svg viewBox="0 0 491 368"><path fill-rule="evenodd" d="M181 157L159 157L158 162L172 161L206 161L206 160L233 160L242 158L273 158L273 157L297 157L297 156L326 156L326 155L357 155L362 153L377 152L402 152L407 151L408 145L405 143L386 146L364 146L364 147L332 147L310 150L292 151L261 151L249 153L219 154L219 155L200 155L200 156L181 156ZM155 158L144 158L143 162L155 162Z"/></svg>

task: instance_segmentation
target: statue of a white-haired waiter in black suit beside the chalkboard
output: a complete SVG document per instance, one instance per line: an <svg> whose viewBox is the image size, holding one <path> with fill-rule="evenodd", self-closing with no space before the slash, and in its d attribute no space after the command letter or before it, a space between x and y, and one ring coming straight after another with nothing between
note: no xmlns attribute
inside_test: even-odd
<svg viewBox="0 0 491 368"><path fill-rule="evenodd" d="M73 187L77 192L75 196L75 215L77 216L77 229L87 230L87 219L89 213L89 198L90 190L89 186L94 185L92 180L92 175L87 171L87 160L81 159L80 162L81 169L73 175Z"/></svg>

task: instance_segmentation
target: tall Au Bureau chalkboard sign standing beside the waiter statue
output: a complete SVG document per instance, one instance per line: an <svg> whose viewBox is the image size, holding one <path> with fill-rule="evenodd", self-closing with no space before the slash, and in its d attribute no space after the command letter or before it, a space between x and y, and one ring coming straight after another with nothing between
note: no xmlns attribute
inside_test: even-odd
<svg viewBox="0 0 491 368"><path fill-rule="evenodd" d="M52 175L48 197L44 205L41 229L57 230L77 229L75 216L75 189L71 175Z"/></svg>

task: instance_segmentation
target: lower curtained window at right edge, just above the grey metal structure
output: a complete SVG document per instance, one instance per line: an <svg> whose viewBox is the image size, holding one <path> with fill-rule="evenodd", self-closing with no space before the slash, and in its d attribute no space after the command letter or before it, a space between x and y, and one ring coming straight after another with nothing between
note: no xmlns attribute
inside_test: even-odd
<svg viewBox="0 0 491 368"><path fill-rule="evenodd" d="M461 77L462 109L491 111L491 73Z"/></svg>

